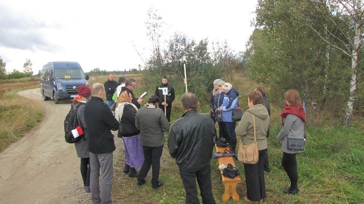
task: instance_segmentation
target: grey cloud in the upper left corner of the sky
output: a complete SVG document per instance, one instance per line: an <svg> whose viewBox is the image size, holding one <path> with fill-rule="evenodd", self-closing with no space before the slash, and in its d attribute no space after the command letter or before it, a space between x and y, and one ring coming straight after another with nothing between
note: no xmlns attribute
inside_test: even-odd
<svg viewBox="0 0 364 204"><path fill-rule="evenodd" d="M58 47L49 43L41 30L51 29L45 21L13 12L0 4L0 46L21 50L52 51Z"/></svg>

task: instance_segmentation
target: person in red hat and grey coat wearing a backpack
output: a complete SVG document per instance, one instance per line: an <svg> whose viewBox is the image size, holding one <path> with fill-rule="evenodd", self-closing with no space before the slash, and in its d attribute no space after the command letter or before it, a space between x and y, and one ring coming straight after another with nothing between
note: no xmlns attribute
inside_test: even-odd
<svg viewBox="0 0 364 204"><path fill-rule="evenodd" d="M81 176L83 180L83 191L86 194L90 194L90 154L88 151L88 134L87 134L87 126L84 121L84 104L88 100L91 99L91 89L88 88L88 86L81 85L77 89L78 94L75 95L73 99L73 109L76 109L77 106L79 106L76 114L77 114L77 120L78 124L83 127L83 139L80 141L75 142L75 148L77 152L77 157L81 158ZM79 105L80 104L80 105Z"/></svg>

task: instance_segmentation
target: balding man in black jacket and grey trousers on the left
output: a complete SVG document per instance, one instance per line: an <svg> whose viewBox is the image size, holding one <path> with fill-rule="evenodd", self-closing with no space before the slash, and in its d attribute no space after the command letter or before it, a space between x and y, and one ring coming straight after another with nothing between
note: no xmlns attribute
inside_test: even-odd
<svg viewBox="0 0 364 204"><path fill-rule="evenodd" d="M90 151L90 188L94 204L111 204L111 189L114 177L113 152L116 149L114 135L111 130L119 128L119 122L110 108L103 102L105 95L101 83L91 87L91 100L84 107L84 118L87 125ZM101 174L101 197L99 191L99 175ZM102 201L101 201L102 200Z"/></svg>

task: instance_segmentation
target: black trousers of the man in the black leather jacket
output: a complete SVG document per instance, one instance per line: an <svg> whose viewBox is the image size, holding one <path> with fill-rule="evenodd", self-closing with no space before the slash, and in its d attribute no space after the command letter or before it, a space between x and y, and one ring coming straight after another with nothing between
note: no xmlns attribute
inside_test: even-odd
<svg viewBox="0 0 364 204"><path fill-rule="evenodd" d="M199 204L196 178L201 192L202 203L215 204L215 199L212 193L210 166L193 172L186 172L180 169L180 174L184 190L186 191L186 204Z"/></svg>

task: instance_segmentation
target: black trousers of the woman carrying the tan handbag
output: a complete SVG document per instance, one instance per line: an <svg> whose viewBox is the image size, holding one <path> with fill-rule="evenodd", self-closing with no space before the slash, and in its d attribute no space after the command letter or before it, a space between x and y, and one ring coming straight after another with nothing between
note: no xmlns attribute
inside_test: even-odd
<svg viewBox="0 0 364 204"><path fill-rule="evenodd" d="M256 164L244 164L247 197L250 201L265 199L264 157L266 149L259 150L259 160Z"/></svg>

